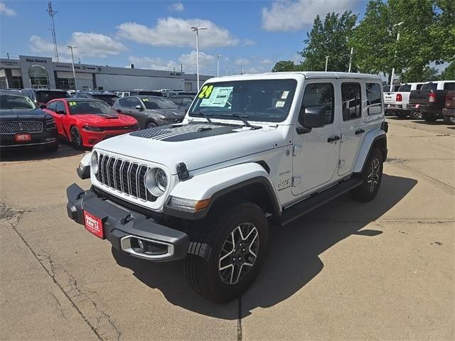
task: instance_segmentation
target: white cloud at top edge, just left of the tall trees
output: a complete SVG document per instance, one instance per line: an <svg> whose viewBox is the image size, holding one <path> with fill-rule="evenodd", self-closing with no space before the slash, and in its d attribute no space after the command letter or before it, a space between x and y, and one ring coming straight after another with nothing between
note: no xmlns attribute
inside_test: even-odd
<svg viewBox="0 0 455 341"><path fill-rule="evenodd" d="M358 0L274 0L262 8L262 28L266 31L297 31L311 25L317 14L352 10Z"/></svg>

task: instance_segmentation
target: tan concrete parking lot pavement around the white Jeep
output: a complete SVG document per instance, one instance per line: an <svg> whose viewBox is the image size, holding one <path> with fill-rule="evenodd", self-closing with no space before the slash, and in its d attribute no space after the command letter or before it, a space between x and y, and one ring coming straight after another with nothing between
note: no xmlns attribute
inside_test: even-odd
<svg viewBox="0 0 455 341"><path fill-rule="evenodd" d="M2 153L0 338L454 340L455 128L388 121L378 197L271 227L257 281L228 305L193 293L183 263L123 256L68 219L83 152Z"/></svg>

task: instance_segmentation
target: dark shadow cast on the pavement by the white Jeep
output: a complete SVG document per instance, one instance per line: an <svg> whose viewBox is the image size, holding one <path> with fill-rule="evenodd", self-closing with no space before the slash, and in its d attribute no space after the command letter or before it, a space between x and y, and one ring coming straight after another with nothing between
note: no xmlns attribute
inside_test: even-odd
<svg viewBox="0 0 455 341"><path fill-rule="evenodd" d="M343 195L285 227L271 226L267 257L255 283L242 296L241 309L232 307L237 307L237 302L216 305L198 296L186 281L183 261L159 264L115 249L112 254L117 264L131 269L147 286L158 288L173 305L215 318L244 318L255 308L286 300L318 276L323 270L319 256L334 244L352 234L371 238L373 244L382 231L363 228L394 207L416 184L417 180L411 178L384 174L378 196L372 202L359 203L350 195Z"/></svg>

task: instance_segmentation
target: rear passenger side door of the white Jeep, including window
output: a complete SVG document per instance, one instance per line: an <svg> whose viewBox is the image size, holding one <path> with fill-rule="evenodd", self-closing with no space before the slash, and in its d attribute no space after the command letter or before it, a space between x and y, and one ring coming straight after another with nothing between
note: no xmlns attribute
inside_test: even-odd
<svg viewBox="0 0 455 341"><path fill-rule="evenodd" d="M365 83L359 80L343 80L341 82L341 144L338 175L346 175L352 171L355 158L365 136L363 109L366 99ZM363 101L365 104L363 104Z"/></svg>

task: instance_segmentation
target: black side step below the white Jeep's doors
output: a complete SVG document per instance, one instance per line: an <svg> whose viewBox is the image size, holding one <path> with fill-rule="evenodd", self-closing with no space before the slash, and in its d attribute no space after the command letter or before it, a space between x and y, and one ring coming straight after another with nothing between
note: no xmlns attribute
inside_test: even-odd
<svg viewBox="0 0 455 341"><path fill-rule="evenodd" d="M335 199L336 197L339 197L340 195L343 195L346 192L349 192L361 184L362 179L350 178L349 180L343 181L342 183L328 188L323 192L315 193L314 195L311 195L311 197L284 210L281 217L278 217L278 223L282 225L289 224L289 222L296 220L302 215L306 215L306 213Z"/></svg>

